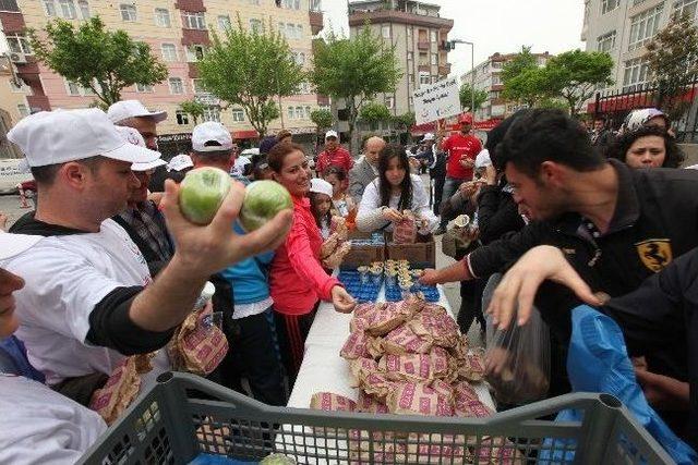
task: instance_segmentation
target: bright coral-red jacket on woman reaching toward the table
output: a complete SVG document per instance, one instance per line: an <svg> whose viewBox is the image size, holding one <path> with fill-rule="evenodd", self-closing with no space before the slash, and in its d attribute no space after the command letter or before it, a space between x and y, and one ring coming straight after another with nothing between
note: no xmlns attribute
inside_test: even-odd
<svg viewBox="0 0 698 465"><path fill-rule="evenodd" d="M339 284L320 264L323 238L310 211L310 200L293 197L293 224L286 241L276 249L269 273L274 309L285 315L310 313L317 299L332 301L332 289Z"/></svg>

